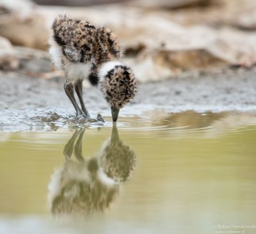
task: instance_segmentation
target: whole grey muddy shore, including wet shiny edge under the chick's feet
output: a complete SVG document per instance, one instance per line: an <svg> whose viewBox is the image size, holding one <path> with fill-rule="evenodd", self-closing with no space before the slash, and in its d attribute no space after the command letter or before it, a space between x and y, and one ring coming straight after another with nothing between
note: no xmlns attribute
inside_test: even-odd
<svg viewBox="0 0 256 234"><path fill-rule="evenodd" d="M174 113L186 115L186 111L228 113L231 122L242 116L238 122L254 125L255 74L254 70L243 70L140 83L136 98L120 111L120 127L133 126L132 121L139 121L143 126L144 122L154 123ZM84 101L92 118L98 113L104 116L104 124L76 119L60 77L47 80L10 72L0 77L0 132L112 126L110 109L97 88L84 88Z"/></svg>

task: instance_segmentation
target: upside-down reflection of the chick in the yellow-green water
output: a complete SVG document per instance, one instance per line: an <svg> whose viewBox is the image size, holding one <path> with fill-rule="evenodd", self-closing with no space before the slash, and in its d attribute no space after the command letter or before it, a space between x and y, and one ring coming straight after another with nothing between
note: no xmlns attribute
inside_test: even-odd
<svg viewBox="0 0 256 234"><path fill-rule="evenodd" d="M111 139L90 159L82 154L83 135L84 129L76 129L63 150L65 162L49 183L51 212L58 217L104 212L136 166L134 151L120 140L115 126Z"/></svg>

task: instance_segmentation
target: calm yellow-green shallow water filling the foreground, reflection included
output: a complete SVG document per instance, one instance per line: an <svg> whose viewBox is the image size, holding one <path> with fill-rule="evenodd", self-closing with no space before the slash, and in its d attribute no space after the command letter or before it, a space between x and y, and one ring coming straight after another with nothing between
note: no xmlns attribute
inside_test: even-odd
<svg viewBox="0 0 256 234"><path fill-rule="evenodd" d="M255 233L255 113L57 119L0 134L0 233Z"/></svg>

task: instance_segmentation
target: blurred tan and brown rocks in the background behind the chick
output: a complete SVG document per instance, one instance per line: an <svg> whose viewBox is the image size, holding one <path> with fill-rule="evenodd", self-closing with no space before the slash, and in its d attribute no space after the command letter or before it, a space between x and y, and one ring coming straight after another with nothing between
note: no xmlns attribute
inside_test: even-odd
<svg viewBox="0 0 256 234"><path fill-rule="evenodd" d="M58 77L46 51L59 13L111 27L140 82L256 62L254 0L1 0L0 69Z"/></svg>

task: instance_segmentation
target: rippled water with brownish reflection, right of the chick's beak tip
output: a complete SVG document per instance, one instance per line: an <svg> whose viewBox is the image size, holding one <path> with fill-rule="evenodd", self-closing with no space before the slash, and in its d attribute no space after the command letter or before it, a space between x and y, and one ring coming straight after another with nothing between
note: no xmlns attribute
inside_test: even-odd
<svg viewBox="0 0 256 234"><path fill-rule="evenodd" d="M159 136L202 136L214 137L220 134L244 132L247 126L256 126L255 113L181 113L152 112L143 118L122 118L122 128L129 131L143 132L143 135ZM255 129L251 127L250 129Z"/></svg>

